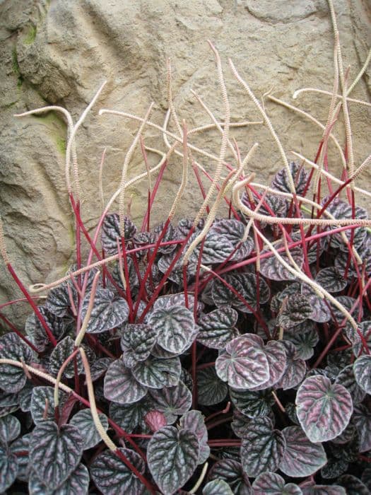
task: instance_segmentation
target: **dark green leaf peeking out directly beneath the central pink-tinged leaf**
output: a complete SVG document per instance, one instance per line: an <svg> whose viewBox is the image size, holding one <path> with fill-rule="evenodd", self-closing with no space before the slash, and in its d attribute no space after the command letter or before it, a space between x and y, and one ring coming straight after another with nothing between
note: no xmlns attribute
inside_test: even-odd
<svg viewBox="0 0 371 495"><path fill-rule="evenodd" d="M235 390L230 388L229 391L230 400L232 400L235 407L245 416L257 418L259 416L267 416L271 412L274 397L270 389L252 392L250 390Z"/></svg>

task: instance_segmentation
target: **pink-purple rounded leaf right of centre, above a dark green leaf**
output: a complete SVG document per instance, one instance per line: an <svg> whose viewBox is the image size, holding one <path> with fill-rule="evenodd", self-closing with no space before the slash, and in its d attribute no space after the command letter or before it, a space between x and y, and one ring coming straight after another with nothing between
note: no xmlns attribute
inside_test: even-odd
<svg viewBox="0 0 371 495"><path fill-rule="evenodd" d="M227 344L225 354L218 356L215 367L220 380L237 389L254 388L269 379L266 355L252 347L244 335Z"/></svg>

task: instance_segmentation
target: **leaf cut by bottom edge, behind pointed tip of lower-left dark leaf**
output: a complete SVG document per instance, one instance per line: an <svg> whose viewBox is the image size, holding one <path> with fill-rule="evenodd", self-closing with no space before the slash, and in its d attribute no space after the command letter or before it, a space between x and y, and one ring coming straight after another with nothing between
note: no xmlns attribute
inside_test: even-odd
<svg viewBox="0 0 371 495"><path fill-rule="evenodd" d="M71 472L69 477L56 490L49 490L38 479L35 472L31 473L28 482L30 495L86 495L88 494L90 476L86 466L82 463Z"/></svg>

